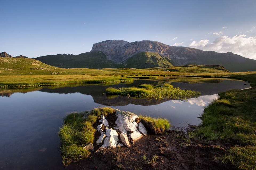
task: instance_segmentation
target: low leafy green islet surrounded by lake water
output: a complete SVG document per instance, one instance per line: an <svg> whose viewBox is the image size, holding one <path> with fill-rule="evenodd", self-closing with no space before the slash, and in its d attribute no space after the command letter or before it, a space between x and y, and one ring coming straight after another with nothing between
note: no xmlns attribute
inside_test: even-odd
<svg viewBox="0 0 256 170"><path fill-rule="evenodd" d="M198 97L201 95L199 91L192 90L181 90L180 88L174 88L170 84L153 86L150 84L141 84L138 87L126 87L126 88L106 88L107 95L124 95L128 97L138 97L138 98L172 98L186 100L191 97Z"/></svg>

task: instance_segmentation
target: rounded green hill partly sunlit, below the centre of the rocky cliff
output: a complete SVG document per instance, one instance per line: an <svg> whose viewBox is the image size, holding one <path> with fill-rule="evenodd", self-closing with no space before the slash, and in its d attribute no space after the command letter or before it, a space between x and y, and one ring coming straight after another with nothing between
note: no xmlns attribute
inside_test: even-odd
<svg viewBox="0 0 256 170"><path fill-rule="evenodd" d="M126 68L152 68L152 67L170 67L171 60L158 53L142 52L128 58L123 67Z"/></svg>

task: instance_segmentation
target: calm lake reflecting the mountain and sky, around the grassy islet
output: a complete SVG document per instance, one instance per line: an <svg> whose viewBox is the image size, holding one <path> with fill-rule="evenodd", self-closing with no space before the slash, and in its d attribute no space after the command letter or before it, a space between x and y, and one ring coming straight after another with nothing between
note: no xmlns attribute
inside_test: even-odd
<svg viewBox="0 0 256 170"><path fill-rule="evenodd" d="M184 90L200 91L201 96L187 102L171 99L141 99L106 96L106 87L130 87L139 84L169 83ZM0 169L69 169L62 165L58 130L70 112L110 106L153 117L164 117L178 129L198 125L203 107L218 93L249 88L244 81L193 77L138 79L130 83L79 85L34 89L0 89Z"/></svg>

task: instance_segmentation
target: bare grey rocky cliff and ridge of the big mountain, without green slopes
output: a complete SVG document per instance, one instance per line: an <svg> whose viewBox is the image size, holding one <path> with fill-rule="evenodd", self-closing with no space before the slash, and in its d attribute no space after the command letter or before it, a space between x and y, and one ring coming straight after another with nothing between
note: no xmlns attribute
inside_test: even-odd
<svg viewBox="0 0 256 170"><path fill-rule="evenodd" d="M169 46L157 41L107 40L95 43L91 51L102 51L106 57L117 63L126 60L138 53L149 51L158 53L170 59L174 66L185 64L220 65L230 71L256 71L256 60L244 58L240 55L203 51L189 47Z"/></svg>

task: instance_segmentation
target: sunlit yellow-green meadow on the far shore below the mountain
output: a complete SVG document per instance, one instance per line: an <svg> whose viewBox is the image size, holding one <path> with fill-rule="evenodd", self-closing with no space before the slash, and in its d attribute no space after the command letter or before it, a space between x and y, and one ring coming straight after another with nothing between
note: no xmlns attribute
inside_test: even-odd
<svg viewBox="0 0 256 170"><path fill-rule="evenodd" d="M134 78L156 79L156 75L229 73L220 66L188 65L146 69L134 68L58 68L31 58L0 58L0 88L27 88L86 83L127 82ZM169 71L172 70L172 71ZM132 78L127 77L127 75ZM141 75L141 76L139 76ZM142 76L147 75L147 76Z"/></svg>

